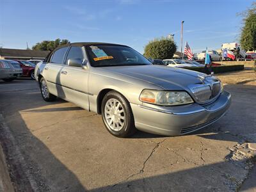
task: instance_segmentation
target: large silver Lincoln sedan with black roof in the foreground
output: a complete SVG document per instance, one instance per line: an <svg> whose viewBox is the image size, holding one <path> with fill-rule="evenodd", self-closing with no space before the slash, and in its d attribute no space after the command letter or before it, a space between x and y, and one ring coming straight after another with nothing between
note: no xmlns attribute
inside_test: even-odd
<svg viewBox="0 0 256 192"><path fill-rule="evenodd" d="M216 122L231 102L218 78L152 65L125 45L64 45L36 65L35 74L45 101L61 97L98 113L118 137L136 129L187 134Z"/></svg>

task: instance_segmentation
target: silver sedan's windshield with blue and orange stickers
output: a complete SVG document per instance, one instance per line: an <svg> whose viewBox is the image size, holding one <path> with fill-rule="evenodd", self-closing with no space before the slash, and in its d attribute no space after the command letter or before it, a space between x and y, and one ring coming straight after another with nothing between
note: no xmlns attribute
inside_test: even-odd
<svg viewBox="0 0 256 192"><path fill-rule="evenodd" d="M92 67L152 65L139 52L122 45L86 46Z"/></svg>

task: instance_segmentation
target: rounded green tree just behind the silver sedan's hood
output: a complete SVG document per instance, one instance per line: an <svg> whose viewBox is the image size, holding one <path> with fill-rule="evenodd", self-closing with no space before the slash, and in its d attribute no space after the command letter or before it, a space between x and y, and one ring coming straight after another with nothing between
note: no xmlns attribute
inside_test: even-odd
<svg viewBox="0 0 256 192"><path fill-rule="evenodd" d="M177 46L170 38L156 38L145 46L144 56L152 59L170 59L176 52Z"/></svg>

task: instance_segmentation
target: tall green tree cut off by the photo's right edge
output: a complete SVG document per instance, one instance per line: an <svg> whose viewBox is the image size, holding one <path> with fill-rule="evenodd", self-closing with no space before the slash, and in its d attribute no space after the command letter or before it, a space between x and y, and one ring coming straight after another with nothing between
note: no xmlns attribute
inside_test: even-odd
<svg viewBox="0 0 256 192"><path fill-rule="evenodd" d="M256 2L243 15L240 43L244 50L256 50Z"/></svg>

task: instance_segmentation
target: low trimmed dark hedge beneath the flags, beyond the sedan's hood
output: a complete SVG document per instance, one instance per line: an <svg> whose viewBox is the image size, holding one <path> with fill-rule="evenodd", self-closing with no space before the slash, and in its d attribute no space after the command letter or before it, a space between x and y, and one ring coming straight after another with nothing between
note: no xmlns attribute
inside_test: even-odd
<svg viewBox="0 0 256 192"><path fill-rule="evenodd" d="M205 73L204 67L184 67L184 68ZM223 72L231 72L231 71L243 70L243 69L244 69L244 65L221 65L221 66L212 67L212 72L214 72L214 74L219 74Z"/></svg>

